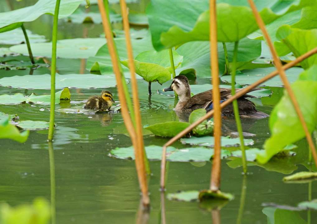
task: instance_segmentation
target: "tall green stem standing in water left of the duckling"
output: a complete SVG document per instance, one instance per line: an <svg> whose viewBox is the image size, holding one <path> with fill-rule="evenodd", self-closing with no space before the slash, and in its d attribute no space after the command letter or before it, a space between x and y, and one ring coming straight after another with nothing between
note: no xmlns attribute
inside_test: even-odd
<svg viewBox="0 0 317 224"><path fill-rule="evenodd" d="M56 0L54 21L53 21L53 35L52 35L52 62L51 62L51 111L49 114L49 141L53 140L54 119L55 119L55 73L56 73L56 42L57 42L57 21L59 6L61 0Z"/></svg>

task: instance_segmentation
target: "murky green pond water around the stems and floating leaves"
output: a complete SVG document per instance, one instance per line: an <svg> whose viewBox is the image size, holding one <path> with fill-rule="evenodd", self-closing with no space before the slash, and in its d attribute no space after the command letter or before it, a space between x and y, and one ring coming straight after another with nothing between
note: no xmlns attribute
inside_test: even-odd
<svg viewBox="0 0 317 224"><path fill-rule="evenodd" d="M51 36L51 16L42 16L35 22L26 23L32 32ZM49 27L49 28L48 28ZM59 24L58 39L97 37L102 33L101 25L96 24ZM58 59L57 70L60 74L88 73L82 69L85 60ZM29 70L0 70L0 78L13 75L26 75ZM49 68L40 68L33 74L49 73ZM102 76L100 77L102 78ZM194 84L195 81L191 81ZM197 79L196 84L210 83L210 79ZM142 125L153 125L165 121L178 120L174 98L156 93L162 88L152 83L152 97L147 94L147 83L138 80ZM170 81L163 84L169 86ZM129 89L131 85L128 84ZM270 113L281 97L282 88L272 87L272 96L252 99L257 109ZM56 181L56 223L136 223L140 192L134 162L110 157L116 147L129 147L131 140L118 112L94 113L83 110L85 100L102 89L70 89L71 100L56 105L54 157ZM108 88L118 103L116 88ZM0 86L0 94L31 93L49 94L49 90L25 90ZM116 104L117 104L116 103ZM18 114L20 120L49 121L49 105L17 104L0 105L0 111ZM234 130L230 120L224 123ZM262 148L269 135L268 118L254 122L243 120L244 131L256 134L250 137L253 146ZM162 146L167 138L155 137L143 129L145 145ZM30 131L28 140L17 143L0 140L0 202L16 206L31 202L38 196L50 200L50 164L47 144L48 130ZM296 143L296 156L275 157L261 166L248 166L250 173L246 178L242 168L230 168L222 161L221 190L231 193L235 199L221 209L221 223L266 224L263 203L297 206L307 201L309 195L317 196L316 182L292 184L284 183L282 178L295 170L307 171L309 165L306 140ZM191 147L181 143L174 147ZM161 220L161 193L159 191L160 161L151 161L151 176L148 178L151 193L151 210L148 223ZM190 162L169 162L166 194L186 190L208 189L211 163L195 166ZM241 203L244 199L244 206ZM239 216L239 211L242 216ZM317 220L316 212L300 211L300 216L311 223ZM212 213L201 208L198 202L178 202L165 199L166 223L213 223ZM145 221L145 220L143 220ZM141 222L139 222L141 223Z"/></svg>

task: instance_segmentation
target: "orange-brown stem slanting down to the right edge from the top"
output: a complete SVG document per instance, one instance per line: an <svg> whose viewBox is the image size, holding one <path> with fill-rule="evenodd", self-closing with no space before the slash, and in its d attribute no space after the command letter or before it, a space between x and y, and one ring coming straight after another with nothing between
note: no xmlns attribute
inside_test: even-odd
<svg viewBox="0 0 317 224"><path fill-rule="evenodd" d="M311 152L313 154L313 157L314 157L314 162L315 162L315 165L317 167L317 152L316 152L316 148L315 148L315 145L314 145L314 142L313 142L313 139L312 139L312 136L311 134L309 133L309 130L308 130L308 127L307 127L307 124L305 122L305 118L303 116L303 113L301 112L301 108L297 102L297 99L295 97L295 94L291 88L291 85L286 77L286 74L285 74L285 71L282 67L282 63L280 61L280 58L277 56L277 53L276 53L276 50L274 48L274 45L273 45L273 42L270 38L270 36L268 35L268 31L265 27L265 24L258 12L258 10L256 9L256 5L254 4L253 0L248 0L249 2L249 5L253 11L253 14L256 18L256 22L259 26L259 28L262 30L262 33L263 33L263 36L268 44L268 47L270 48L270 51L271 51L271 54L273 56L273 60L274 60L274 65L278 71L278 73L280 74L280 77L281 77L281 80L283 81L283 84L288 92L288 95L289 95L289 98L291 99L293 105L294 105L294 108L295 108L295 111L301 121L301 125L303 126L303 129L304 129L304 132L306 134L306 138L307 138L307 142L308 142L308 145L311 149Z"/></svg>

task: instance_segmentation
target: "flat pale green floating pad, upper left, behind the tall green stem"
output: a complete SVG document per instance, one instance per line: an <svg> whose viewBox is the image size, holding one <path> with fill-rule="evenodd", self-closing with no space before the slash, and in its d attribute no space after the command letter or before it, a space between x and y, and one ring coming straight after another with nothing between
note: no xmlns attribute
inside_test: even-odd
<svg viewBox="0 0 317 224"><path fill-rule="evenodd" d="M75 38L57 41L57 57L60 58L88 58L94 56L104 45L104 38ZM31 43L33 56L52 57L52 42ZM29 55L26 44L18 44L10 48L11 51Z"/></svg>

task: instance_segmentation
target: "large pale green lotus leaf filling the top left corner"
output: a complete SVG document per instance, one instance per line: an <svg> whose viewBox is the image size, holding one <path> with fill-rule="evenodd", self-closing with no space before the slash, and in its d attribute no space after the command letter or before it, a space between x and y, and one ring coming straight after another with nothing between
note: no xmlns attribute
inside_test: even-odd
<svg viewBox="0 0 317 224"><path fill-rule="evenodd" d="M58 18L72 14L82 0L61 0ZM54 15L56 0L39 0L32 6L0 13L0 32L9 31L22 25L23 22L36 20L43 14Z"/></svg>

